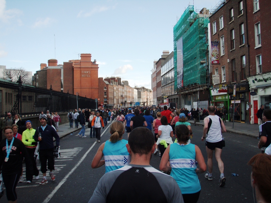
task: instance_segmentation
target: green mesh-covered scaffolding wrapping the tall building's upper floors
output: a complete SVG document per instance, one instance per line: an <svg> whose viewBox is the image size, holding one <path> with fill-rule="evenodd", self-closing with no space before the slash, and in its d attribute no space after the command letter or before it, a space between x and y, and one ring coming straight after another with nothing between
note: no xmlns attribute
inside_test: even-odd
<svg viewBox="0 0 271 203"><path fill-rule="evenodd" d="M210 13L205 8L198 14L194 11L194 6L188 6L173 28L175 91L185 86L207 84L209 16ZM178 42L179 40L182 40L182 43ZM177 73L177 48L178 54L182 52L182 57L178 56L178 60L183 63L182 77L179 76L180 68Z"/></svg>

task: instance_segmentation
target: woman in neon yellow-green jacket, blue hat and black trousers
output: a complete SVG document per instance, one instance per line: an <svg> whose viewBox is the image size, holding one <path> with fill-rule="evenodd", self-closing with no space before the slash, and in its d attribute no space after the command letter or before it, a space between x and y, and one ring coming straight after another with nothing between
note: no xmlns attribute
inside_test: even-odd
<svg viewBox="0 0 271 203"><path fill-rule="evenodd" d="M26 121L26 130L22 135L22 142L26 146L26 151L28 152L32 165L33 165L33 174L29 173L29 170L26 168L26 183L31 183L33 175L36 176L36 180L39 179L39 170L37 169L36 161L34 159L34 153L38 142L34 140L35 129L32 128L32 122L30 120Z"/></svg>

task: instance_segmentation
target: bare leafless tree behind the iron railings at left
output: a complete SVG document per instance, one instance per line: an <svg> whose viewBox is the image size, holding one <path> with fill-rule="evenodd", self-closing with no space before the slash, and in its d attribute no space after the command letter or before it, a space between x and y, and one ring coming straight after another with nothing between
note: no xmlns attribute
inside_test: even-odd
<svg viewBox="0 0 271 203"><path fill-rule="evenodd" d="M4 69L4 78L9 79L12 82L17 82L19 77L21 76L21 80L23 83L31 85L31 73L26 71L25 68L13 68L13 69Z"/></svg>

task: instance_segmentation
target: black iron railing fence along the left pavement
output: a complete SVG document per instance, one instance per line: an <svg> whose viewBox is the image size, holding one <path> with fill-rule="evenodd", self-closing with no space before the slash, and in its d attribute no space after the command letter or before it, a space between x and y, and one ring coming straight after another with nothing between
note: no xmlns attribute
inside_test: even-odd
<svg viewBox="0 0 271 203"><path fill-rule="evenodd" d="M94 99L78 96L79 108L95 109ZM8 112L12 115L37 115L41 111L66 112L77 108L76 95L37 88L32 85L17 83L0 78L0 117Z"/></svg>

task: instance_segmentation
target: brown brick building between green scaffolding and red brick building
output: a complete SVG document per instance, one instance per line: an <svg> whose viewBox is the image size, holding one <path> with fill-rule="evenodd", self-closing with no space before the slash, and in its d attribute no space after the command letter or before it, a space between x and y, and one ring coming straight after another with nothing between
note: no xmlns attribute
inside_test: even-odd
<svg viewBox="0 0 271 203"><path fill-rule="evenodd" d="M236 85L235 121L239 122L250 120L246 16L245 0L229 0L220 1L218 9L209 17L211 41L219 42L219 64L211 65L212 75L219 75L219 82L212 84L212 103L228 109L234 103L233 86Z"/></svg>

